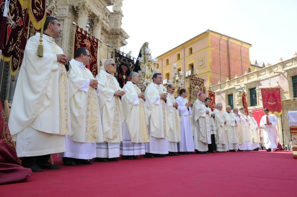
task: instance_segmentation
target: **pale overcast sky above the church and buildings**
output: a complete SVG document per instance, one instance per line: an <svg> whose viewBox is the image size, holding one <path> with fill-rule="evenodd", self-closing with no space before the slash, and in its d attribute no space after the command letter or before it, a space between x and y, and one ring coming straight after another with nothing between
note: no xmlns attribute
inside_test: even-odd
<svg viewBox="0 0 297 197"><path fill-rule="evenodd" d="M250 60L274 64L297 52L296 0L124 0L122 11L124 52L136 58L144 42L157 57L207 29L252 44Z"/></svg>

